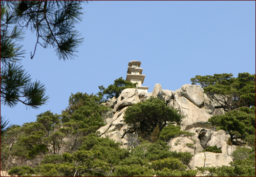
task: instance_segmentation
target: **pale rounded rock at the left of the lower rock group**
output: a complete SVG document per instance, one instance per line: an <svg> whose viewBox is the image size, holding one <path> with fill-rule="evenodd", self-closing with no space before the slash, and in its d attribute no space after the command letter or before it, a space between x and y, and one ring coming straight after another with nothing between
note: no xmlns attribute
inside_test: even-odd
<svg viewBox="0 0 256 177"><path fill-rule="evenodd" d="M190 152L191 154L195 155L194 145L189 147L187 144L194 144L194 141L189 140L187 137L176 137L167 145L170 146L170 151L176 150L177 152Z"/></svg>

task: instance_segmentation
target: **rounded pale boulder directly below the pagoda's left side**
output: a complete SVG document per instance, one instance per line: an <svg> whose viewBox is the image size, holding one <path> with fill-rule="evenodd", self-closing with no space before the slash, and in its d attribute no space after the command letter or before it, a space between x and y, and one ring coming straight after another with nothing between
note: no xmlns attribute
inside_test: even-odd
<svg viewBox="0 0 256 177"><path fill-rule="evenodd" d="M138 90L124 89L117 99L117 104L115 105L113 112L115 113L120 108L130 106L139 102L141 101L139 98Z"/></svg>

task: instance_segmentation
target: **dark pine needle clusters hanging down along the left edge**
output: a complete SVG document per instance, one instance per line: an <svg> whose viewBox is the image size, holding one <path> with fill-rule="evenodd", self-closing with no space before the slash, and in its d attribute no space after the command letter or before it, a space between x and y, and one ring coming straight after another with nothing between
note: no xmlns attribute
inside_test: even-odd
<svg viewBox="0 0 256 177"><path fill-rule="evenodd" d="M22 65L17 65L23 57L22 45L17 40L23 39L22 28L16 25L10 8L1 2L1 103L14 107L18 102L38 108L45 104L45 87L39 81L31 82L30 75ZM15 25L13 30L10 26Z"/></svg>

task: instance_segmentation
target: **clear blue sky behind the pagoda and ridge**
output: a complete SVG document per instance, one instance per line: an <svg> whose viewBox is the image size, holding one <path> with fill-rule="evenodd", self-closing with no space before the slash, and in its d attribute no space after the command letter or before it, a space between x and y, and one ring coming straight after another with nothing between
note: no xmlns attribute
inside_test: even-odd
<svg viewBox="0 0 256 177"><path fill-rule="evenodd" d="M98 86L126 78L128 63L141 61L142 86L175 91L196 75L255 74L255 1L93 1L83 4L76 29L84 37L74 60L59 60L54 49L37 47L35 34L20 42L22 65L50 99L39 109L1 105L12 124L36 121L51 110L61 114L71 93L96 94Z"/></svg>

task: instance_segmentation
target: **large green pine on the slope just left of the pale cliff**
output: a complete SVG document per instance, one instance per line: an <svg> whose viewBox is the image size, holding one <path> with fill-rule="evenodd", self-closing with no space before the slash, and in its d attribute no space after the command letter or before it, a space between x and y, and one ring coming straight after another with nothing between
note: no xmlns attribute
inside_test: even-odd
<svg viewBox="0 0 256 177"><path fill-rule="evenodd" d="M108 107L100 104L100 98L96 95L80 92L71 94L69 106L61 114L63 124L60 128L68 137L65 145L69 152L77 150L86 136L104 126L102 115L108 110Z"/></svg>

